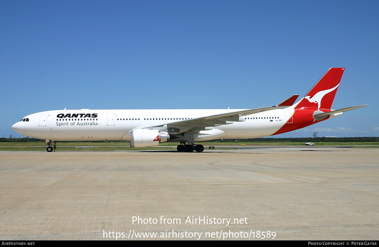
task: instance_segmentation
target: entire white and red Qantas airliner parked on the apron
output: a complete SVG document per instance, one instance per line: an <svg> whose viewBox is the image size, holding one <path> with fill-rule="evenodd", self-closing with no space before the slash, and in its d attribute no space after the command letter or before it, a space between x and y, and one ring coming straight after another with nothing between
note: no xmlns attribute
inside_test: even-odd
<svg viewBox="0 0 379 247"><path fill-rule="evenodd" d="M256 138L285 133L334 118L352 106L332 110L345 68L330 68L296 104L293 95L277 106L247 110L51 110L22 118L12 129L51 141L125 140L145 148L180 141L178 151L202 152L196 141ZM188 143L188 144L186 144ZM49 145L47 151L53 149Z"/></svg>

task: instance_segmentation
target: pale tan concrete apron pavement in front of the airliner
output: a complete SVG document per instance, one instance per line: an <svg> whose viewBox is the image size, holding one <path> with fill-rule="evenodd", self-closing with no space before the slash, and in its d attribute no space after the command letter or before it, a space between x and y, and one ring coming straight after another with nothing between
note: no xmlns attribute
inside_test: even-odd
<svg viewBox="0 0 379 247"><path fill-rule="evenodd" d="M282 240L379 238L379 149L205 148L0 152L0 240L166 230L202 232L200 239L229 230L274 231ZM158 222L133 224L133 216ZM161 216L181 224L160 224ZM189 224L188 217L247 224Z"/></svg>

